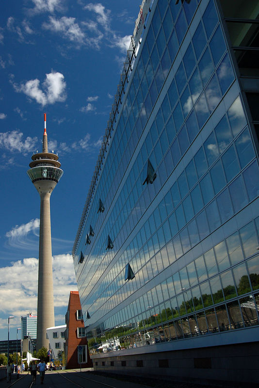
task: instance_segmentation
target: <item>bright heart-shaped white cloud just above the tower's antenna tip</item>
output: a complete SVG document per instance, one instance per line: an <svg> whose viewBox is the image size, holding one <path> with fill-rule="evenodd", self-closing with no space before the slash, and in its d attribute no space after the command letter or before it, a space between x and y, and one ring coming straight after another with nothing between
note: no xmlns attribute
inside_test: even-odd
<svg viewBox="0 0 259 388"><path fill-rule="evenodd" d="M16 92L26 94L26 96L35 99L42 106L54 104L57 101L62 102L66 99L64 75L55 71L46 74L46 79L42 85L43 90L40 88L40 81L37 78L20 85L17 85L12 80L10 82Z"/></svg>

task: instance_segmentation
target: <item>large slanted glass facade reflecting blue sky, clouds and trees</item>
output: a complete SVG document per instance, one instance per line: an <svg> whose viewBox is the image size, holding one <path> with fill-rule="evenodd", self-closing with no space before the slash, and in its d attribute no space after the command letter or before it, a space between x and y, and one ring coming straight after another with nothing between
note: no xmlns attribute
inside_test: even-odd
<svg viewBox="0 0 259 388"><path fill-rule="evenodd" d="M259 338L259 4L235 3L146 18L73 248L93 356Z"/></svg>

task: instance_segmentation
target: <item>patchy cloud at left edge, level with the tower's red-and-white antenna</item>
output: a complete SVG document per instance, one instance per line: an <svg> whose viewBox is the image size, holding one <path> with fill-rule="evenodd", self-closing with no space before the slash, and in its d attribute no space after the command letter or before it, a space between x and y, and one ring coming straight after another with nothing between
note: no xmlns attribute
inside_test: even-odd
<svg viewBox="0 0 259 388"><path fill-rule="evenodd" d="M37 137L28 136L22 140L23 133L13 130L10 132L0 133L0 148L5 148L8 151L18 151L27 153L35 148Z"/></svg>

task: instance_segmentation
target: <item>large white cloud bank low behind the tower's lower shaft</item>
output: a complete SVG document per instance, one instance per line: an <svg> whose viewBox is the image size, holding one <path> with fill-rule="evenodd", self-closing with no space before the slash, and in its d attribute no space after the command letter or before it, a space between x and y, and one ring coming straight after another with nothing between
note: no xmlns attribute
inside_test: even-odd
<svg viewBox="0 0 259 388"><path fill-rule="evenodd" d="M69 254L54 256L52 266L54 306L65 307L69 292L77 290L72 256ZM36 313L37 279L38 259L35 258L18 260L0 268L0 312L16 317L12 322L10 321L11 326L19 325L20 316L28 311ZM11 305L10 301L12 301ZM0 319L0 328L5 326L6 322Z"/></svg>

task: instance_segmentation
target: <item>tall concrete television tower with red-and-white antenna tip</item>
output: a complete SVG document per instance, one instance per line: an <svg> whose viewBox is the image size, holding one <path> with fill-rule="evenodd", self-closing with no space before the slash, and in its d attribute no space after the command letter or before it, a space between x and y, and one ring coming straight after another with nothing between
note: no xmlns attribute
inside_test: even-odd
<svg viewBox="0 0 259 388"><path fill-rule="evenodd" d="M44 134L42 152L32 155L30 170L27 174L40 194L40 237L39 237L39 271L38 271L38 306L37 306L37 350L43 346L49 349L46 329L55 326L51 226L50 226L50 194L54 190L63 171L58 162L58 155L48 152L46 132L46 113L44 113Z"/></svg>

